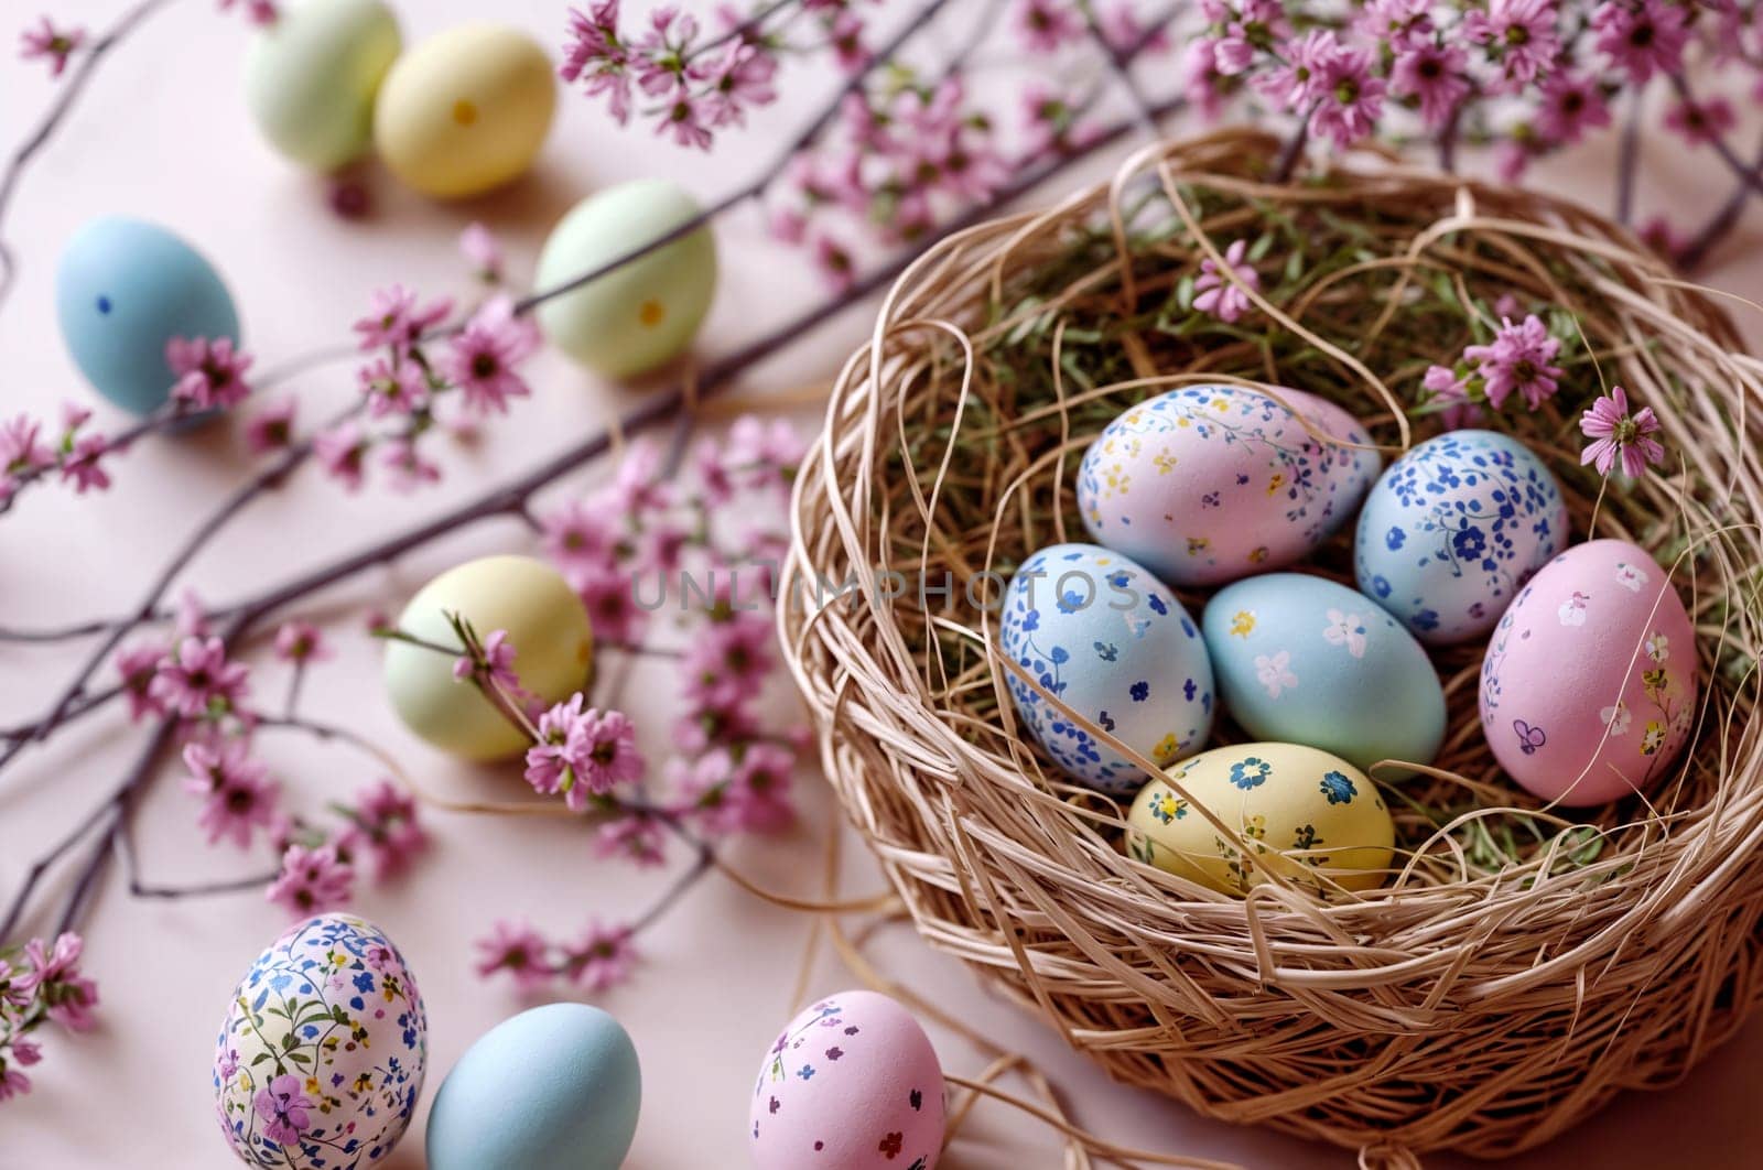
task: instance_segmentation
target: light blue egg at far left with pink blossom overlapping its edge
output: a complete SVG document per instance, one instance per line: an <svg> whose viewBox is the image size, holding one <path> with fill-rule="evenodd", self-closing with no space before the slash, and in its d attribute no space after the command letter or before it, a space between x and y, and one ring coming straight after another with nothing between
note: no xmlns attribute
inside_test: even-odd
<svg viewBox="0 0 1763 1170"><path fill-rule="evenodd" d="M157 224L106 217L74 233L55 277L67 352L92 386L134 414L171 396L173 337L238 344L233 294L203 254Z"/></svg>

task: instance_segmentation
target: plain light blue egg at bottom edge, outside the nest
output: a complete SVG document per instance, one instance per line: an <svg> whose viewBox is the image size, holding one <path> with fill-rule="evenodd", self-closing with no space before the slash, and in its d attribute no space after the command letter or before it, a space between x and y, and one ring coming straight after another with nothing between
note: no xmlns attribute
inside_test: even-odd
<svg viewBox="0 0 1763 1170"><path fill-rule="evenodd" d="M636 1048L615 1018L580 1003L532 1008L441 1082L428 1170L617 1170L640 1107Z"/></svg>

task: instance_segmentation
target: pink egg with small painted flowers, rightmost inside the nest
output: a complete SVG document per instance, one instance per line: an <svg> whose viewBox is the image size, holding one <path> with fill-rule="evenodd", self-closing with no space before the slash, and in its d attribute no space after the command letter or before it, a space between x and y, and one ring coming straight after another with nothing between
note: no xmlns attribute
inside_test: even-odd
<svg viewBox="0 0 1763 1170"><path fill-rule="evenodd" d="M1481 729L1543 800L1645 791L1696 719L1696 631L1671 578L1627 541L1555 557L1506 610L1481 661Z"/></svg>

